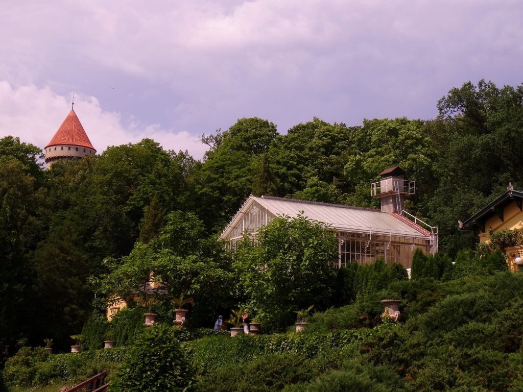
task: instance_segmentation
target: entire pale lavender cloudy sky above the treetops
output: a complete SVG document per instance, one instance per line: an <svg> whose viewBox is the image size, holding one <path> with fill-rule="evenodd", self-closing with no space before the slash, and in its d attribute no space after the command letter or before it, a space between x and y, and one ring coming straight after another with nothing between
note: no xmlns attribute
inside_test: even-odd
<svg viewBox="0 0 523 392"><path fill-rule="evenodd" d="M44 148L71 110L98 153L258 117L433 119L452 87L523 82L520 0L1 0L0 137Z"/></svg>

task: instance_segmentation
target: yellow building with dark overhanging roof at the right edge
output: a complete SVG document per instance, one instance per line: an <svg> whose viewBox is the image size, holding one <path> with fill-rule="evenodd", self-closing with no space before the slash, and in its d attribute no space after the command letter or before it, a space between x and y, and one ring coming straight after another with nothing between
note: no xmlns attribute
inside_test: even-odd
<svg viewBox="0 0 523 392"><path fill-rule="evenodd" d="M514 190L509 184L507 191L482 210L468 218L458 221L461 230L473 231L481 244L490 241L490 232L501 230L523 230L523 191ZM507 264L511 271L517 270L516 258L523 256L523 244L505 248Z"/></svg>

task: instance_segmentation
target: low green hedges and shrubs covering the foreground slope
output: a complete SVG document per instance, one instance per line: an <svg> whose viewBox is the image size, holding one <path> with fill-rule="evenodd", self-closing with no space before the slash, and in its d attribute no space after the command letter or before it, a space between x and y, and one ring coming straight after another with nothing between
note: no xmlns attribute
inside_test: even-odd
<svg viewBox="0 0 523 392"><path fill-rule="evenodd" d="M157 325L130 349L49 355L24 348L7 361L4 377L9 385L46 384L57 375L70 383L104 366L140 373L139 390L150 390L143 385L150 375L141 374L151 372L158 382L176 374L173 385L197 391L516 391L523 386L522 285L523 274L495 270L458 280L396 280L316 313L301 333L230 338ZM378 316L376 326L358 328L382 312L382 298L401 300L400 322ZM113 390L126 390L119 383Z"/></svg>

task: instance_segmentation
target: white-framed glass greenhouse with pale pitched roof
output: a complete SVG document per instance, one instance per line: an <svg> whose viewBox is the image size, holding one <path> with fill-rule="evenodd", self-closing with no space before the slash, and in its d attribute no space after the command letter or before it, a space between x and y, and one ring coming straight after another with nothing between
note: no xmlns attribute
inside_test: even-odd
<svg viewBox="0 0 523 392"><path fill-rule="evenodd" d="M387 264L411 267L416 248L437 251L437 228L425 229L396 212L277 197L251 195L225 228L220 238L234 248L244 234L255 236L258 229L278 216L302 213L336 231L338 260L334 268L355 261L370 264L382 257Z"/></svg>

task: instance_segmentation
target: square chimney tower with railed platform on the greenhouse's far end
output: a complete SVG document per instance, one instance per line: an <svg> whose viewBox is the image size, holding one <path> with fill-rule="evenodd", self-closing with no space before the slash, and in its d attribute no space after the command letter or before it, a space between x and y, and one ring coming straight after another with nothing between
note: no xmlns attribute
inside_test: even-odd
<svg viewBox="0 0 523 392"><path fill-rule="evenodd" d="M399 166L385 169L379 175L381 180L371 184L372 196L381 199L381 211L403 215L404 197L415 193L416 183L405 180L405 172Z"/></svg>

